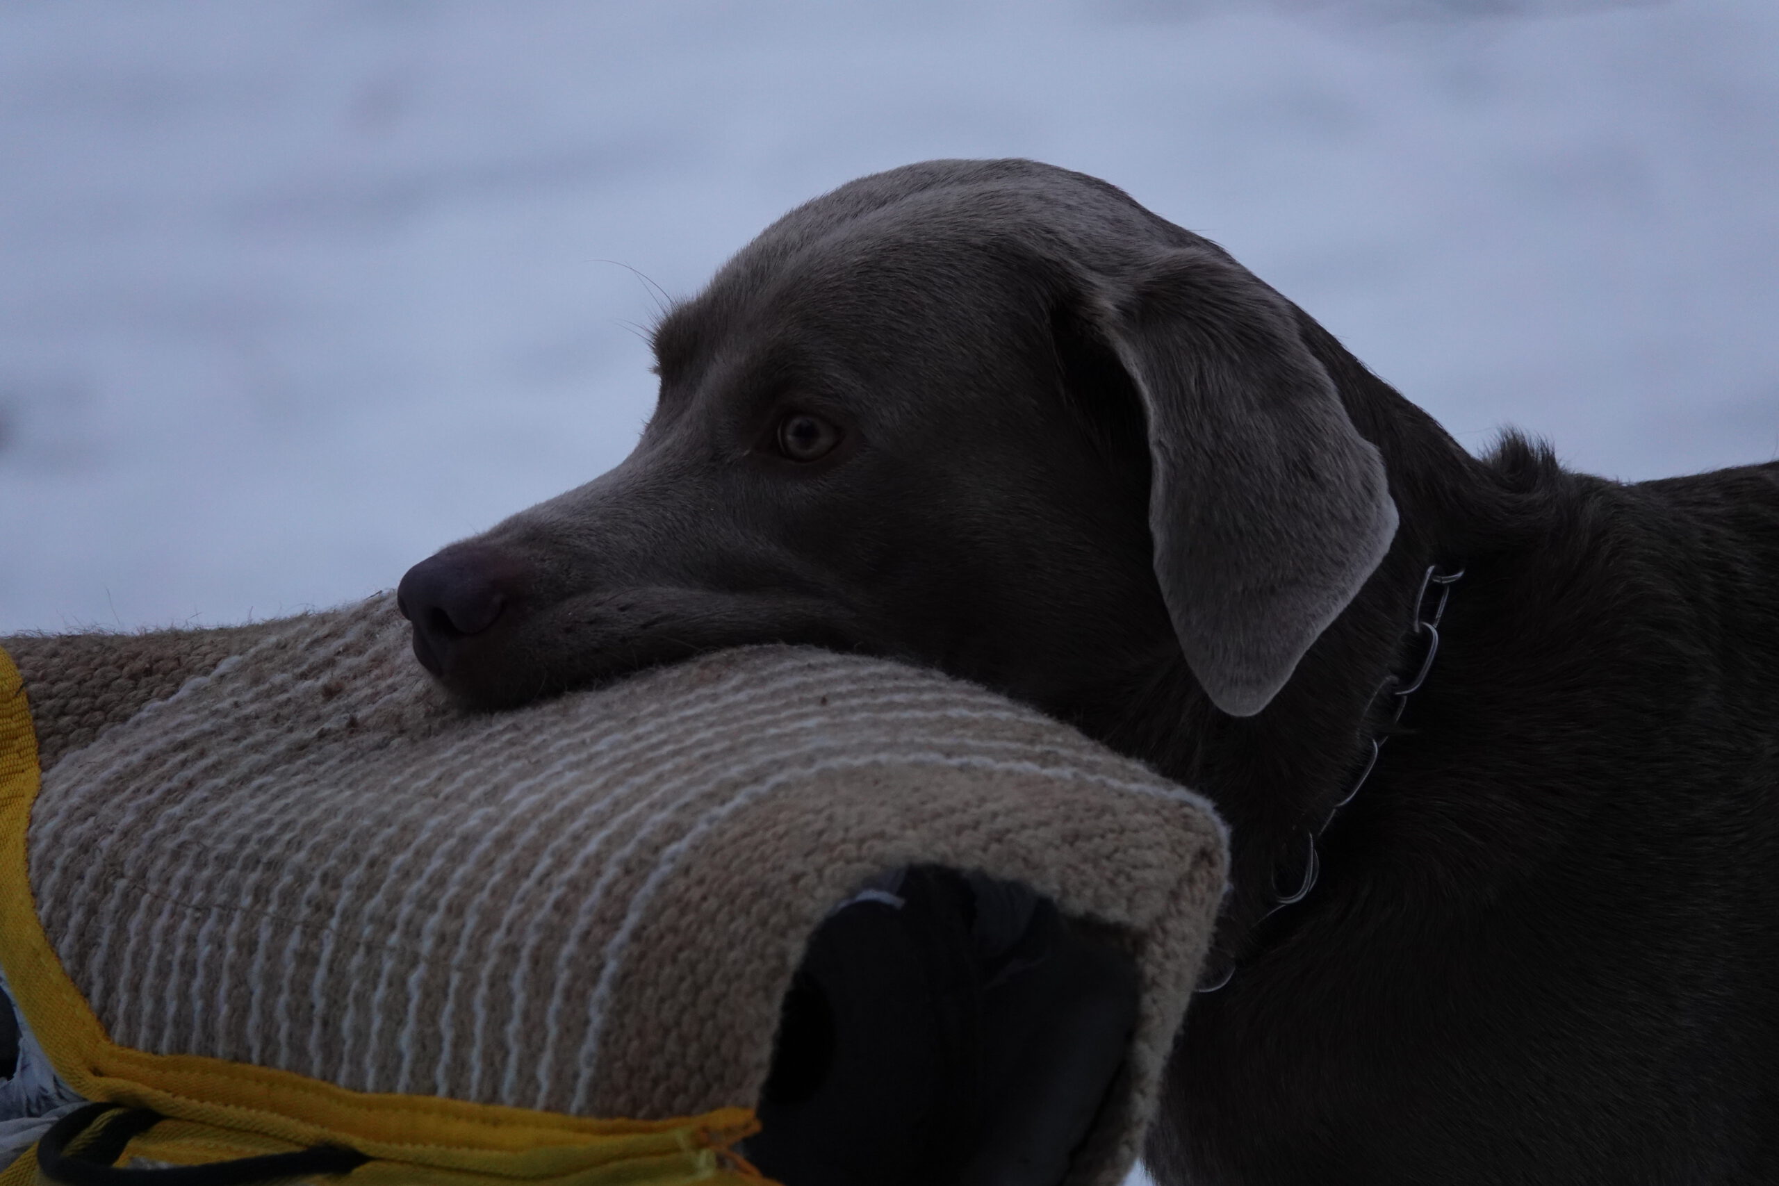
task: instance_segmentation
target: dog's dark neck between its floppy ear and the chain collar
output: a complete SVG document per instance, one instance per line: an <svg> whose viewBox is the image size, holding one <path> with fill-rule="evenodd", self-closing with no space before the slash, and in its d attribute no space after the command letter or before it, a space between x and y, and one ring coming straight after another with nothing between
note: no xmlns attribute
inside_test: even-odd
<svg viewBox="0 0 1779 1186"><path fill-rule="evenodd" d="M1302 885L1306 836L1320 832L1352 793L1373 738L1395 727L1397 701L1379 690L1413 677L1425 653L1416 619L1429 567L1461 569L1477 525L1498 517L1491 512L1498 482L1487 466L1304 322L1348 416L1384 455L1400 514L1389 555L1260 715L1217 711L1174 654L1139 681L1139 708L1107 731L1117 749L1208 795L1231 827L1231 894L1219 921L1213 983L1290 923L1268 916ZM1421 695L1437 693L1436 672L1430 681ZM1388 766L1388 752L1381 763Z"/></svg>

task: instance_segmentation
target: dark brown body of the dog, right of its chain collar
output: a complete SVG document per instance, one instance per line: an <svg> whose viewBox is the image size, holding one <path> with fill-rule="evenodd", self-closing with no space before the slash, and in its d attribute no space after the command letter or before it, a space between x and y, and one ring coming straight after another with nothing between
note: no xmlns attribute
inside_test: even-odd
<svg viewBox="0 0 1779 1186"><path fill-rule="evenodd" d="M1523 477L1315 891L1194 1003L1163 1181L1779 1181L1779 468Z"/></svg>

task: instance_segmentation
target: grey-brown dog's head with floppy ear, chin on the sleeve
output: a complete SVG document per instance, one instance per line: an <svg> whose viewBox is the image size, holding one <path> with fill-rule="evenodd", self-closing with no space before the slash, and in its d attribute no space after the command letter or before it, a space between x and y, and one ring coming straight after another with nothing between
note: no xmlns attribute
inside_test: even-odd
<svg viewBox="0 0 1779 1186"><path fill-rule="evenodd" d="M1251 715L1397 528L1295 309L1048 165L843 185L655 352L621 466L402 580L415 651L463 701L809 642L1064 713L1165 651Z"/></svg>

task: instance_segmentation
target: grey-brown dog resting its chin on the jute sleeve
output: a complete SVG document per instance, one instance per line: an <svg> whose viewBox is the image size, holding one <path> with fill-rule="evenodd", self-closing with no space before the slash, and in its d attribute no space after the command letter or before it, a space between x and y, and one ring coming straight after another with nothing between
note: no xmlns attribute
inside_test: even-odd
<svg viewBox="0 0 1779 1186"><path fill-rule="evenodd" d="M1160 1182L1779 1182L1779 464L1475 457L1025 160L799 206L653 345L623 464L402 580L464 704L815 644L1208 795Z"/></svg>

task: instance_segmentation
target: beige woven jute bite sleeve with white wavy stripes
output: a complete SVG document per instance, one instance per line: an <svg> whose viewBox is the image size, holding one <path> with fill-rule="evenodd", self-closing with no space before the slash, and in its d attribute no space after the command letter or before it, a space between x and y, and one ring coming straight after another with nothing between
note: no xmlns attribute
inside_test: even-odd
<svg viewBox="0 0 1779 1186"><path fill-rule="evenodd" d="M178 686L151 665L30 821L39 918L112 1040L578 1115L753 1106L811 932L930 862L1135 955L1089 1177L1135 1156L1224 880L1190 791L971 685L813 649L464 715L390 597L210 642L240 653L192 647ZM27 661L34 715L66 720L53 645Z"/></svg>

